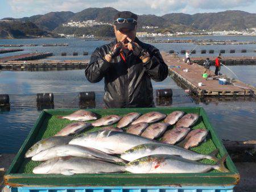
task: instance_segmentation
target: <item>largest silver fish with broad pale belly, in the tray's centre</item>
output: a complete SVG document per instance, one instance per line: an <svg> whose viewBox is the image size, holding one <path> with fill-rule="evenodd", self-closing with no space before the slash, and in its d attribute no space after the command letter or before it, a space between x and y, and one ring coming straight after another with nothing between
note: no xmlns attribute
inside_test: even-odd
<svg viewBox="0 0 256 192"><path fill-rule="evenodd" d="M69 144L94 148L108 154L122 154L126 150L144 143L159 143L138 135L120 131L95 131L81 133Z"/></svg>

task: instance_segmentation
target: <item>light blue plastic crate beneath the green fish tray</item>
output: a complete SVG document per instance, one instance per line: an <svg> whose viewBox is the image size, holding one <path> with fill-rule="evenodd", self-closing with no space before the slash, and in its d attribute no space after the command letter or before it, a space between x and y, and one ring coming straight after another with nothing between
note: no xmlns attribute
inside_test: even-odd
<svg viewBox="0 0 256 192"><path fill-rule="evenodd" d="M11 192L233 192L234 186L10 187Z"/></svg>

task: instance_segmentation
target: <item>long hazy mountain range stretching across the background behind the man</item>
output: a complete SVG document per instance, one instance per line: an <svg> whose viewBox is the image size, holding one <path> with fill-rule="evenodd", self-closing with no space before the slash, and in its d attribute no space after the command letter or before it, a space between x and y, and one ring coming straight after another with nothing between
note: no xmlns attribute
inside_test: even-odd
<svg viewBox="0 0 256 192"><path fill-rule="evenodd" d="M74 33L77 35L100 34L102 36L114 35L111 26L95 27L63 27L63 23L71 20L82 22L84 20L96 20L98 22L113 22L114 15L118 10L112 7L88 8L77 13L70 11L49 12L45 15L34 15L30 17L9 20L32 22L43 31L59 34ZM158 28L142 28L142 26L154 26ZM224 30L246 30L256 28L256 14L245 11L223 11L200 14L172 13L163 16L138 15L138 31L147 32L184 32L184 31L224 31ZM102 29L102 31L101 31ZM96 31L96 32L94 32Z"/></svg>

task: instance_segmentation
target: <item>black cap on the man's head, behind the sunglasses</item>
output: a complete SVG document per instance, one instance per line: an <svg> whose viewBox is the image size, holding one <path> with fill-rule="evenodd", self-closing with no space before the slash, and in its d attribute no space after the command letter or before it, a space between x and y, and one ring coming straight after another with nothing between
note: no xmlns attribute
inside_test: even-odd
<svg viewBox="0 0 256 192"><path fill-rule="evenodd" d="M123 19L133 18L133 19L137 20L138 16L136 14L134 14L133 12L130 12L130 11L120 11L120 12L117 12L117 14L115 14L114 20L117 20L118 18L123 18ZM118 23L117 21L115 21L114 25L117 28L117 30L120 30L121 28L129 28L129 30L134 30L135 26L137 25L137 22L134 22L134 23L127 23L127 22Z"/></svg>

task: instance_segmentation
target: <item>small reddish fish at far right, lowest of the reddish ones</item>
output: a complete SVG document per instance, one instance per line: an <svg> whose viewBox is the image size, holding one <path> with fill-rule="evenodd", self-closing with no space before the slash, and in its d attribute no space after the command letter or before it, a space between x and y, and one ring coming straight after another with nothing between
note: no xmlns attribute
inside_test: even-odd
<svg viewBox="0 0 256 192"><path fill-rule="evenodd" d="M196 147L207 137L208 130L197 129L189 132L189 135L184 139L184 148L189 149L191 147Z"/></svg>

